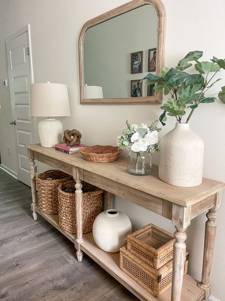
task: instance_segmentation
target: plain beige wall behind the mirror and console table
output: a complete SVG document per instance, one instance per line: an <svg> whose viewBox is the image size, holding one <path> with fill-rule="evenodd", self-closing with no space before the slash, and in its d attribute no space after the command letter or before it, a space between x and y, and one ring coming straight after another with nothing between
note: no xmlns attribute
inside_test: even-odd
<svg viewBox="0 0 225 301"><path fill-rule="evenodd" d="M116 136L131 123L150 122L158 118L159 105L80 105L78 88L77 41L82 25L89 19L126 3L124 0L1 0L0 1L0 149L4 166L15 171L14 152L7 155L6 146L13 145L9 89L3 89L1 80L7 78L4 39L25 24L31 28L33 71L35 82L64 83L68 86L71 117L61 118L63 128L77 128L86 144L115 144ZM215 6L209 0L163 0L166 20L165 65L174 66L190 50L203 50L203 59L213 55L224 57L225 40L223 0ZM215 4L214 4L215 5ZM219 77L225 78L225 72ZM221 81L222 82L222 81ZM223 80L223 85L225 80ZM214 88L214 93L218 85ZM212 91L213 92L213 91ZM166 98L164 97L163 101ZM204 177L225 182L225 106L220 102L202 104L192 116L190 127L204 140ZM116 116L116 118L115 118ZM172 129L174 119L169 118L161 134ZM153 157L157 163L158 156ZM218 230L213 259L212 295L225 300L225 193L218 216ZM126 212L134 229L153 222L173 231L170 221L116 198L115 207ZM200 278L205 216L195 218L187 234L190 251L189 273Z"/></svg>

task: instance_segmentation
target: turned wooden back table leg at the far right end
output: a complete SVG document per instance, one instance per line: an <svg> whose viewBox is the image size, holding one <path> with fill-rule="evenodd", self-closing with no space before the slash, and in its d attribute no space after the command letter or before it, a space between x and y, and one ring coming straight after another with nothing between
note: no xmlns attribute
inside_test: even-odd
<svg viewBox="0 0 225 301"><path fill-rule="evenodd" d="M214 206L208 210L206 214L207 221L205 223L205 234L204 234L204 253L203 253L203 265L202 265L202 275L201 281L198 286L205 291L204 300L206 300L210 295L210 271L211 263L213 257L215 232L216 232L216 217L217 209L221 202L221 192L215 194Z"/></svg>

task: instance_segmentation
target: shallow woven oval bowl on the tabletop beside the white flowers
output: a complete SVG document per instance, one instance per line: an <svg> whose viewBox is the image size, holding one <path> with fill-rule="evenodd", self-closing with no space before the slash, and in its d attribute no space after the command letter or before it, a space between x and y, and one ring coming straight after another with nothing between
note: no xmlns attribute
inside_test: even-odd
<svg viewBox="0 0 225 301"><path fill-rule="evenodd" d="M115 161L121 151L117 146L111 145L85 146L79 150L86 161L102 163Z"/></svg>

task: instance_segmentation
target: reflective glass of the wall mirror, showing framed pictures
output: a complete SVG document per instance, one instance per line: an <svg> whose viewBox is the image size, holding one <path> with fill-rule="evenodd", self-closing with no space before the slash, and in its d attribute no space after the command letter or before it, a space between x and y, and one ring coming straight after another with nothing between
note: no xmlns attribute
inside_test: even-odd
<svg viewBox="0 0 225 301"><path fill-rule="evenodd" d="M154 96L140 80L155 73L157 13L144 5L87 29L83 39L84 98Z"/></svg>

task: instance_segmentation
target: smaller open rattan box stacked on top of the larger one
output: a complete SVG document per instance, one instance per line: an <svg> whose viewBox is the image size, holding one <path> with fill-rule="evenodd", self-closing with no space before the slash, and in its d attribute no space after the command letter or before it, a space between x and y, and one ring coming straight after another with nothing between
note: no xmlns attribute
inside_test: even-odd
<svg viewBox="0 0 225 301"><path fill-rule="evenodd" d="M127 250L159 269L172 259L173 235L153 224L149 224L127 235Z"/></svg>

